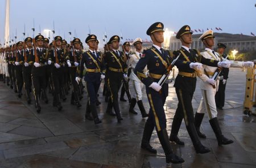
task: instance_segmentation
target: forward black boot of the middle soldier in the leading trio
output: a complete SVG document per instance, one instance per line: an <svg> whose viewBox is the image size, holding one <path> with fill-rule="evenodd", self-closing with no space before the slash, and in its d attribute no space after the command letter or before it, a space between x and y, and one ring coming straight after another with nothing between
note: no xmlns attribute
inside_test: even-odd
<svg viewBox="0 0 256 168"><path fill-rule="evenodd" d="M188 134L192 140L193 146L196 149L196 153L208 153L210 152L210 149L207 147L204 147L203 144L201 144L201 141L199 140L199 136L197 135L195 125L193 123L189 124L187 127Z"/></svg>

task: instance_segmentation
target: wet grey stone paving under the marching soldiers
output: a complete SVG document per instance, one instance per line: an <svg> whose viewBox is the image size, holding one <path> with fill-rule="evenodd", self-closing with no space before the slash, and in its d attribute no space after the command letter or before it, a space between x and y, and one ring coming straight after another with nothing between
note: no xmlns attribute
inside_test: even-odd
<svg viewBox="0 0 256 168"><path fill-rule="evenodd" d="M185 146L172 144L172 147L185 162L169 167L256 167L255 118L242 113L245 74L241 69L230 68L225 108L218 111L222 132L234 140L234 143L218 147L205 115L201 130L207 135L207 139L201 141L211 152L196 154L183 122L179 137L185 141ZM84 118L87 101L85 95L80 109L70 105L69 94L68 100L63 102L63 111L57 111L51 103L46 105L42 102L42 112L37 114L34 102L27 105L24 96L21 100L18 99L1 82L0 168L166 167L164 152L155 131L151 145L158 153L151 154L140 148L146 119L142 119L139 114L129 114L127 102L120 102L124 120L117 123L114 117L105 114L106 102L101 87L99 99L102 104L98 111L102 124L95 126ZM52 97L49 97L49 102L52 102ZM201 92L197 87L192 101L195 111L200 99ZM143 97L143 102L148 110L146 97ZM176 107L175 89L170 84L169 96L164 106L168 133ZM135 109L139 112L138 106Z"/></svg>

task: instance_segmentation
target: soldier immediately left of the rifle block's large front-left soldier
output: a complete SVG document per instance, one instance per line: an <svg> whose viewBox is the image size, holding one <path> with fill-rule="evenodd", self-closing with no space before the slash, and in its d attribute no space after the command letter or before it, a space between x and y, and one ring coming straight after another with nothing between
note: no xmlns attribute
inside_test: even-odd
<svg viewBox="0 0 256 168"><path fill-rule="evenodd" d="M24 81L24 89L27 97L27 104L31 103L31 98L30 98L30 92L31 92L31 87L32 87L32 80L31 80L31 70L33 64L31 64L34 61L34 53L32 50L32 38L27 37L24 40L25 45L27 46L24 48L26 51L26 57L24 55L24 66L22 68L22 75L23 75L23 81Z"/></svg>

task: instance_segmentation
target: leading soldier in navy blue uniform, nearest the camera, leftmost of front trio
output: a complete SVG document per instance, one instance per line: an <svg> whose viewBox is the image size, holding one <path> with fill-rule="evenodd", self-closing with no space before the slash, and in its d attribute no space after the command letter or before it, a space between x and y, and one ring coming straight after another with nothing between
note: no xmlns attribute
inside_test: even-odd
<svg viewBox="0 0 256 168"><path fill-rule="evenodd" d="M163 106L168 96L168 84L164 83L162 87L158 84L159 79L166 73L167 67L172 62L169 52L162 48L162 42L164 41L163 28L163 23L156 22L147 29L147 35L151 37L153 46L144 51L144 54L134 69L134 74L146 85L147 98L150 104L149 116L145 123L141 147L149 152L156 153L156 150L150 145L150 138L155 127L166 155L166 162L183 163L183 158L176 156L172 152L171 143L168 140L166 131L166 114L164 113ZM146 66L149 76L143 72ZM177 60L176 66L189 68L189 63Z"/></svg>

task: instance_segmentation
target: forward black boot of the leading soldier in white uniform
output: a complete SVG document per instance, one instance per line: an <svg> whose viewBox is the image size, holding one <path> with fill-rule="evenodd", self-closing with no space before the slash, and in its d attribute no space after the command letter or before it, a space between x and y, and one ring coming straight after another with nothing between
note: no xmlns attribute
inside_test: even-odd
<svg viewBox="0 0 256 168"><path fill-rule="evenodd" d="M219 146L232 144L234 142L233 140L227 139L224 135L222 135L217 117L210 119L209 122L210 126L212 126L213 132L215 133Z"/></svg>

